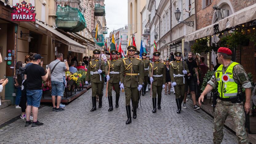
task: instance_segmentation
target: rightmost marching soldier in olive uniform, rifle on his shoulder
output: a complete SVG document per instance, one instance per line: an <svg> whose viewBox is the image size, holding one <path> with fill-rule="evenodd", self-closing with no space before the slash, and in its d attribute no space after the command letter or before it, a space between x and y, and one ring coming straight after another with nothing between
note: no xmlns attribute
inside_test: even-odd
<svg viewBox="0 0 256 144"><path fill-rule="evenodd" d="M182 53L175 52L174 55L176 57L176 61L171 63L170 76L171 76L172 85L174 86L174 90L175 90L176 104L178 107L177 113L180 114L181 103L185 95L185 84L186 84L185 74L189 73L189 70L186 62L184 62L185 68L183 68L183 64L181 62Z"/></svg>

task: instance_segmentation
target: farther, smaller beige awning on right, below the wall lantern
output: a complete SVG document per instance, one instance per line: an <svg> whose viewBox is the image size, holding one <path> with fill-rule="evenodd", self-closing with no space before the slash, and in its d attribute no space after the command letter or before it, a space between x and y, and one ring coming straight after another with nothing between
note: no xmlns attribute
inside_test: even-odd
<svg viewBox="0 0 256 144"><path fill-rule="evenodd" d="M214 25L218 24L218 22L211 24L210 26L206 26L200 30L196 30L193 33L185 35L185 42L193 41L198 38L203 38L206 36L210 36L214 34Z"/></svg>

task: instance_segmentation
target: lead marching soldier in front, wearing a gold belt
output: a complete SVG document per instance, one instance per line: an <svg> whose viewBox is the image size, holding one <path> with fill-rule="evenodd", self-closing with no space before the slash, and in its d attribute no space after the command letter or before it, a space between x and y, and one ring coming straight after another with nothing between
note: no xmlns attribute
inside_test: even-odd
<svg viewBox="0 0 256 144"><path fill-rule="evenodd" d="M127 47L129 56L123 59L123 66L125 71L124 90L125 90L125 101L126 101L126 124L130 124L131 120L131 107L130 101L133 101L133 118L137 118L137 105L139 91L142 89L143 78L144 78L144 67L142 66L141 60L134 57L135 46ZM122 79L122 78L121 78Z"/></svg>

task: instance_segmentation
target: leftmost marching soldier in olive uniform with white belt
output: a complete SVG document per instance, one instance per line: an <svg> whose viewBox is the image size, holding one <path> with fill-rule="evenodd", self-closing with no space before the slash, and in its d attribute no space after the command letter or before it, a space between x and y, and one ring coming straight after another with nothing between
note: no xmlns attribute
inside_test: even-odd
<svg viewBox="0 0 256 144"><path fill-rule="evenodd" d="M104 86L104 77L103 74L105 73L105 63L104 61L99 59L99 55L101 54L99 50L94 50L94 60L89 63L87 68L87 74L85 77L85 83L88 84L89 75L90 75L90 82L92 87L92 105L93 108L90 111L96 110L96 94L99 96L99 108L102 107L102 91ZM101 67L99 69L101 62Z"/></svg>

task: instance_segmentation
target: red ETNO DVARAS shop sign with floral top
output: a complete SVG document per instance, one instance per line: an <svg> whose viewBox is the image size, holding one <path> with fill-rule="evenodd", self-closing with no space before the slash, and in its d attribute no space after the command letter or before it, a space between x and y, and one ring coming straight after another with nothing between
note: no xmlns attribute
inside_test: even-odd
<svg viewBox="0 0 256 144"><path fill-rule="evenodd" d="M19 22L35 22L36 13L34 6L27 2L23 1L21 4L17 3L13 6L13 13L11 13L11 21Z"/></svg>

